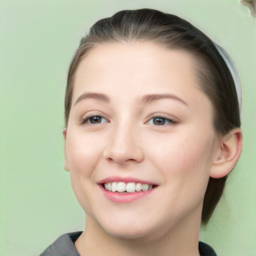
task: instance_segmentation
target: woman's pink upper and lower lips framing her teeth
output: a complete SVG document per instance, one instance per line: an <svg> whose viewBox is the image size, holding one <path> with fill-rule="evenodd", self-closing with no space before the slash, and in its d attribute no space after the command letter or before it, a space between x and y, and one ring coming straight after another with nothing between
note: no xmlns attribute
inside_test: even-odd
<svg viewBox="0 0 256 256"><path fill-rule="evenodd" d="M144 183L144 184L149 184L149 185L154 185L154 187L152 189L149 189L147 191L136 191L136 192L112 192L112 191L108 191L103 187L104 183L108 183L108 182L136 182L136 183ZM100 180L98 182L98 186L101 189L101 191L103 192L103 195L111 200L112 202L115 203L129 203L129 202L133 202L135 200L138 200L140 198L143 198L147 195L149 195L152 191L155 190L155 188L157 187L157 184L147 181L147 180L141 180L141 179L137 179L134 177L119 177L119 176L111 176L111 177L107 177L104 178L102 180Z"/></svg>

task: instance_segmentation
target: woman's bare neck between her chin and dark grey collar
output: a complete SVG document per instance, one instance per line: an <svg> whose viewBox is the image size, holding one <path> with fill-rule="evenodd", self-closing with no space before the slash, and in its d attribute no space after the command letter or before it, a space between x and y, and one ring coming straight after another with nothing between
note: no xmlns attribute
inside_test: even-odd
<svg viewBox="0 0 256 256"><path fill-rule="evenodd" d="M106 233L93 218L86 215L85 229L75 241L75 246L81 256L198 256L200 217L196 221L194 218L193 221L189 219L182 219L178 226L171 227L161 235L150 234L146 237L124 239Z"/></svg>

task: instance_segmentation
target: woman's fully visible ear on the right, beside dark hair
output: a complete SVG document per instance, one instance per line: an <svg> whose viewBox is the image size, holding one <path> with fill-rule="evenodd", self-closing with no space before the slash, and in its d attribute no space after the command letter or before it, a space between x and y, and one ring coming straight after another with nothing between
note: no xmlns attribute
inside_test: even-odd
<svg viewBox="0 0 256 256"><path fill-rule="evenodd" d="M242 150L242 132L234 128L220 138L217 155L210 168L212 178L221 178L227 175L235 166Z"/></svg>

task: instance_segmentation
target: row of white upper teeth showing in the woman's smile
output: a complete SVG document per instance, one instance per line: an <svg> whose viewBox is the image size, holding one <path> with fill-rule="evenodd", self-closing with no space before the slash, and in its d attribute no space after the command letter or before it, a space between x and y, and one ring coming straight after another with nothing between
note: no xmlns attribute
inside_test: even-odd
<svg viewBox="0 0 256 256"><path fill-rule="evenodd" d="M128 193L133 193L135 191L147 191L149 189L152 189L152 185L148 184L142 184L142 183L135 183L135 182L107 182L104 183L104 187L108 191L112 192L128 192Z"/></svg>

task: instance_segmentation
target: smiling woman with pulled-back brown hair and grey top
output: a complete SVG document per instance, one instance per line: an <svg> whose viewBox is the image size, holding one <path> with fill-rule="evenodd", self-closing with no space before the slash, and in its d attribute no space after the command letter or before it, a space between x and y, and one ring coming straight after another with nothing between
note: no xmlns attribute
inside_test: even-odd
<svg viewBox="0 0 256 256"><path fill-rule="evenodd" d="M232 64L171 14L96 22L69 67L63 131L86 226L41 255L215 255L198 236L242 147Z"/></svg>

